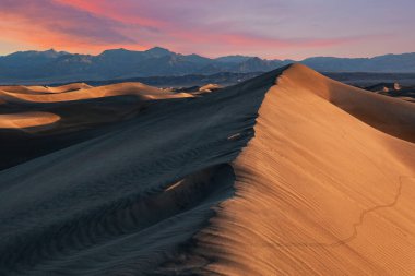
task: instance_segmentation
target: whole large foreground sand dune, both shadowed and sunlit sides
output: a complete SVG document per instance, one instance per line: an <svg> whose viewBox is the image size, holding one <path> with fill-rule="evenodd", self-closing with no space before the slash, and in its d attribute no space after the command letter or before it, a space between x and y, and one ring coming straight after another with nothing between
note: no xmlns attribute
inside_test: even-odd
<svg viewBox="0 0 415 276"><path fill-rule="evenodd" d="M155 101L0 171L0 275L415 275L414 113L298 64Z"/></svg>

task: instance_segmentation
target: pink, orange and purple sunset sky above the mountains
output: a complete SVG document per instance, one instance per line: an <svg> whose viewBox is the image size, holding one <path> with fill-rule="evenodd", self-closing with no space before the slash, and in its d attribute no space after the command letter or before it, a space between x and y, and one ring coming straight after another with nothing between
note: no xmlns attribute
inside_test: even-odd
<svg viewBox="0 0 415 276"><path fill-rule="evenodd" d="M206 57L415 51L414 0L0 0L0 56L154 46Z"/></svg>

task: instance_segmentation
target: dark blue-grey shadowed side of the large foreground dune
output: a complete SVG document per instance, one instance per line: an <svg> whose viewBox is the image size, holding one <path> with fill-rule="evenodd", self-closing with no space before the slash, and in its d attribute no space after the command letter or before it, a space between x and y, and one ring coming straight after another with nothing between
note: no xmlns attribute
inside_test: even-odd
<svg viewBox="0 0 415 276"><path fill-rule="evenodd" d="M105 135L1 171L0 274L165 275L159 266L177 259L203 269L210 260L186 252L234 195L226 164L252 136L274 79L155 103Z"/></svg>

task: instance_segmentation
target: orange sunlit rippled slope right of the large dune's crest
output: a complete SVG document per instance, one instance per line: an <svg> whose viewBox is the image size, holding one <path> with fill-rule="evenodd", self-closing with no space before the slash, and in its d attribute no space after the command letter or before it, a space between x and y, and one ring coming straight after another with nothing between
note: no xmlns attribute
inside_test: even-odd
<svg viewBox="0 0 415 276"><path fill-rule="evenodd" d="M303 65L287 69L266 93L256 137L234 163L236 196L198 236L197 252L216 260L209 272L415 274L415 144L327 99L349 112L356 109L347 104L358 103L365 119L392 118L382 129L415 127L407 113L414 106L327 81ZM406 124L394 120L402 110Z"/></svg>

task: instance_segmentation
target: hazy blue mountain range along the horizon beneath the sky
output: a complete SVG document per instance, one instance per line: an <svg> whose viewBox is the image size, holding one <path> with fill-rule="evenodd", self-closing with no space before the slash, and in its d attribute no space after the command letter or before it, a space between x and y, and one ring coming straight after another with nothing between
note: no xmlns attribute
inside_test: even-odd
<svg viewBox="0 0 415 276"><path fill-rule="evenodd" d="M300 62L321 72L415 72L415 52L375 58L315 57L301 61L258 57L206 58L154 47L145 51L105 50L97 56L56 51L19 51L0 57L0 83L103 81L143 76L177 76L221 72L265 72Z"/></svg>

